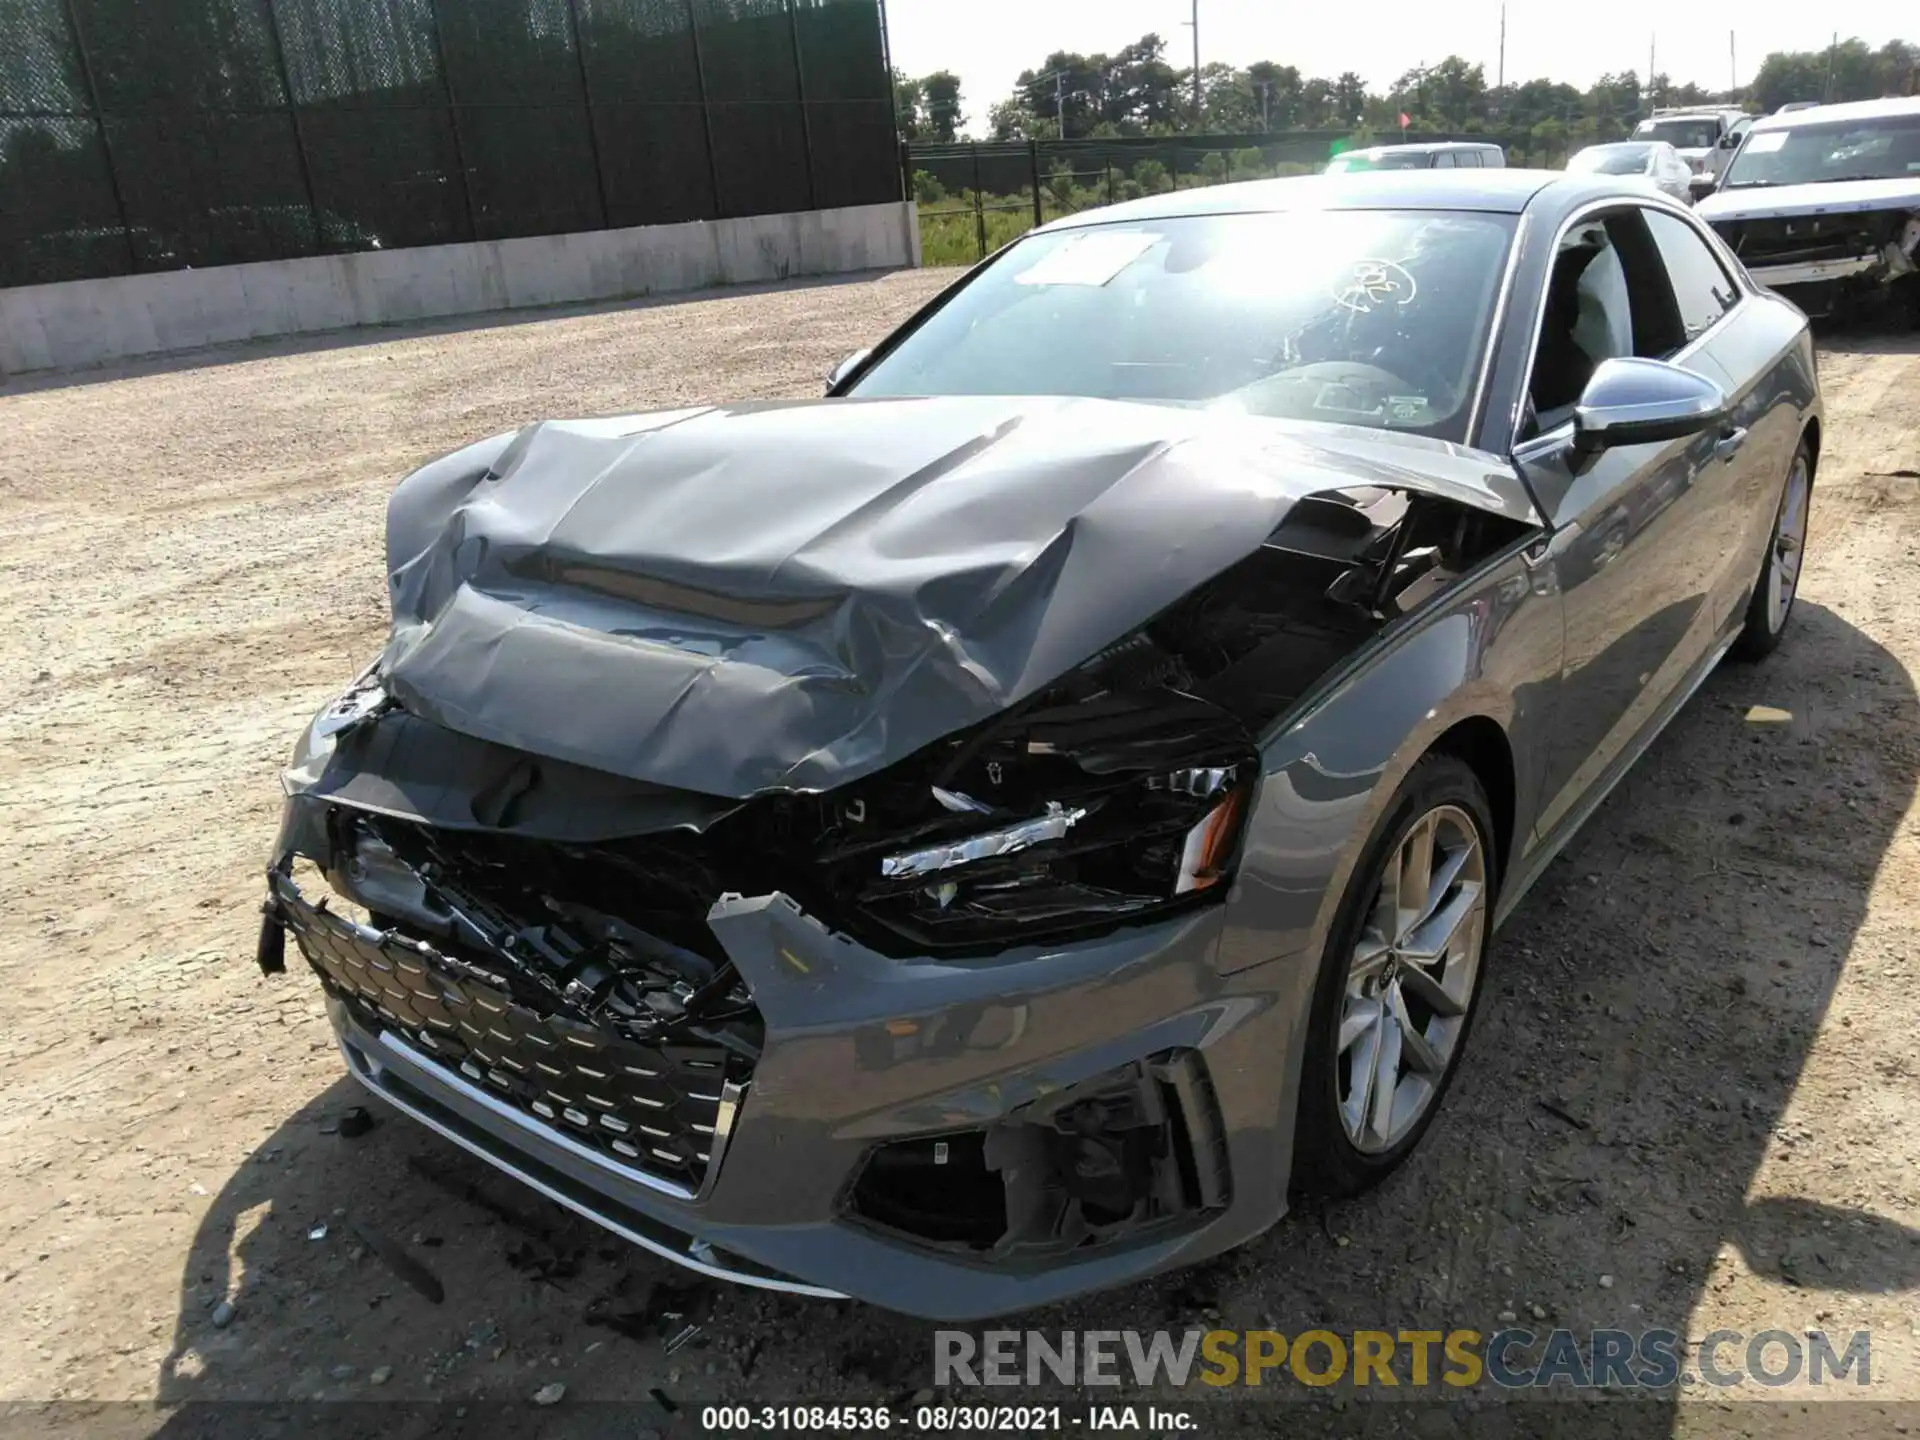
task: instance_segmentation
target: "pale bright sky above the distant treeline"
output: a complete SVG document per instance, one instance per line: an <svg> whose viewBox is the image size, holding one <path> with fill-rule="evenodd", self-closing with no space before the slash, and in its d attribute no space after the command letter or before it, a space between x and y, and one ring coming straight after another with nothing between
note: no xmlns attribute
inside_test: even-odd
<svg viewBox="0 0 1920 1440"><path fill-rule="evenodd" d="M1574 19L1580 12L1601 23ZM1179 65L1192 63L1190 0L887 0L893 63L910 75L958 71L973 131L987 106L1004 100L1021 69L1052 50L1117 50L1146 31L1167 40ZM1655 65L1674 81L1724 86L1728 27L1740 83L1768 50L1818 50L1841 10L1807 0L1738 0L1732 6L1670 0L1607 0L1567 6L1509 0L1507 79L1538 75L1592 84L1607 71L1645 75L1647 42ZM1920 40L1920 6L1912 0L1849 0L1841 38L1872 46L1891 38ZM1500 58L1498 0L1440 6L1432 0L1369 0L1365 6L1283 0L1200 0L1200 60L1246 65L1275 60L1308 75L1357 71L1369 88L1384 88L1415 65L1457 52L1486 65Z"/></svg>

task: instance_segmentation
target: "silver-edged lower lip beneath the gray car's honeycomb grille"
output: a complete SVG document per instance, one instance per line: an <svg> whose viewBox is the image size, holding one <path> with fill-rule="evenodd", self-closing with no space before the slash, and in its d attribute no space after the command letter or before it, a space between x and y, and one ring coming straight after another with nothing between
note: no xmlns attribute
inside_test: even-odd
<svg viewBox="0 0 1920 1440"><path fill-rule="evenodd" d="M682 1269L689 1269L716 1281L751 1284L760 1290L780 1290L783 1294L804 1294L816 1300L847 1298L841 1290L828 1290L820 1284L787 1279L776 1271L753 1267L751 1261L741 1261L739 1267L730 1265L720 1260L720 1252L705 1240L687 1236L685 1233L662 1225L637 1210L611 1202L607 1196L568 1181L561 1171L538 1164L532 1156L536 1156L541 1146L564 1142L566 1137L547 1133L518 1110L501 1104L486 1091L468 1085L459 1075L436 1066L396 1035L382 1031L371 1046L363 1046L355 1039L342 1035L340 1054L346 1058L348 1071L353 1079L401 1114L417 1119L436 1135L453 1140L453 1144L478 1156L493 1169L499 1169L522 1185L538 1190L555 1204L566 1206L576 1215L584 1215L595 1225L612 1231L628 1244L636 1244L660 1260L680 1265ZM480 1108L488 1116L490 1123L524 1137L524 1144L493 1139L488 1131L476 1125L467 1125L455 1110L442 1106L432 1098L434 1089L451 1091L457 1100ZM601 1156L586 1150L582 1150L582 1158L601 1167L607 1165ZM728 1260L733 1258L730 1256Z"/></svg>

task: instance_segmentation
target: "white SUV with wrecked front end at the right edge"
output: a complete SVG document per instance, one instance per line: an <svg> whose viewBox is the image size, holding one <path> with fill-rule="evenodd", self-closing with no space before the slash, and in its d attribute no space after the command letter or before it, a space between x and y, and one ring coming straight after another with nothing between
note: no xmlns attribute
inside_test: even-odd
<svg viewBox="0 0 1920 1440"><path fill-rule="evenodd" d="M1768 115L1699 213L1809 313L1897 296L1920 319L1920 98Z"/></svg>

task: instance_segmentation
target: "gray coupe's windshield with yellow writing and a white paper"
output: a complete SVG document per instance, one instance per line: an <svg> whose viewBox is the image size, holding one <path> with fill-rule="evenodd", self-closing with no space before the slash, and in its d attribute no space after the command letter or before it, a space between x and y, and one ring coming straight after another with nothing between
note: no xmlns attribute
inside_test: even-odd
<svg viewBox="0 0 1920 1440"><path fill-rule="evenodd" d="M854 396L1091 396L1461 440L1511 215L1188 215L1016 242Z"/></svg>

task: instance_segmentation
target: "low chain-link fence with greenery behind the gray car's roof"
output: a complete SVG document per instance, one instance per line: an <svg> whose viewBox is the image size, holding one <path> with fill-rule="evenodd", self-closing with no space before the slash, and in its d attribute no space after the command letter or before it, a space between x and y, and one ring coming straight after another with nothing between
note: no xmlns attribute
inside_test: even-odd
<svg viewBox="0 0 1920 1440"><path fill-rule="evenodd" d="M1524 132L1411 138L1498 144L1507 165L1567 163L1565 142ZM1202 184L1313 175L1350 148L1357 142L1346 131L981 140L908 146L902 163L920 202L922 263L972 265L1062 215Z"/></svg>

